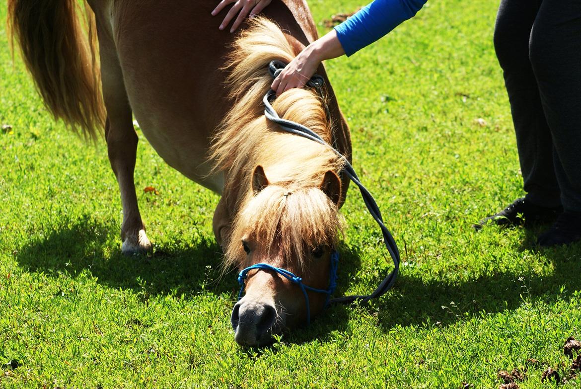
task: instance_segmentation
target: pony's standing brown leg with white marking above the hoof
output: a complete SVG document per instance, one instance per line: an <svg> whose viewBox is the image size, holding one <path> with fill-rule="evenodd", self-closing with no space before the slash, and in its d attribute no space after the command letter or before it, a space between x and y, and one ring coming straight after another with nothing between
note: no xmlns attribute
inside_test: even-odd
<svg viewBox="0 0 581 389"><path fill-rule="evenodd" d="M103 99L107 110L105 138L109 162L119 183L123 224L121 224L121 251L124 254L144 252L151 249L145 234L145 224L141 220L133 173L137 154L137 134L133 128L131 106L123 83L123 75L117 59L117 52L111 40L98 30L101 55L101 78ZM105 35L105 36L103 36Z"/></svg>

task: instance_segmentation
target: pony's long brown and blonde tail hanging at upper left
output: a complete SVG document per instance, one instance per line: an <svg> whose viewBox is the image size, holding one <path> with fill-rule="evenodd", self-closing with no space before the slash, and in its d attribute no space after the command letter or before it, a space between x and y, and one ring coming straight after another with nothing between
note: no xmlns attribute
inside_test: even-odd
<svg viewBox="0 0 581 389"><path fill-rule="evenodd" d="M8 0L8 26L46 108L95 140L105 122L95 18L86 2L78 8L77 0Z"/></svg>

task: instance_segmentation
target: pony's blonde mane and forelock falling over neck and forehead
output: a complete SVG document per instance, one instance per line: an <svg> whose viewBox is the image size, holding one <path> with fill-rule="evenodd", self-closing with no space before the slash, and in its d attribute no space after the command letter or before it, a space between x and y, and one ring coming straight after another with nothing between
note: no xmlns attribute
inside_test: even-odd
<svg viewBox="0 0 581 389"><path fill-rule="evenodd" d="M303 267L309 252L333 244L342 224L335 204L320 189L325 172L340 172L343 161L317 142L282 131L264 116L262 99L272 78L271 60L290 62L297 52L281 29L264 18L241 33L229 55L226 80L234 106L218 127L210 159L224 172L224 196L234 222L225 244L225 265L243 263L243 237L291 254ZM284 119L303 124L332 142L332 125L314 90L292 89L272 104ZM269 185L254 194L252 173L264 167Z"/></svg>

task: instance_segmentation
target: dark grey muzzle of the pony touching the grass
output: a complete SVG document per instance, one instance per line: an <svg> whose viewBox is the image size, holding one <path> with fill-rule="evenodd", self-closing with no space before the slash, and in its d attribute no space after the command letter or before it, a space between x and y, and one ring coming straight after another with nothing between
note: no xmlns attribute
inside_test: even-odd
<svg viewBox="0 0 581 389"><path fill-rule="evenodd" d="M274 306L261 302L239 301L232 309L234 339L242 346L263 345L272 341L277 311Z"/></svg>

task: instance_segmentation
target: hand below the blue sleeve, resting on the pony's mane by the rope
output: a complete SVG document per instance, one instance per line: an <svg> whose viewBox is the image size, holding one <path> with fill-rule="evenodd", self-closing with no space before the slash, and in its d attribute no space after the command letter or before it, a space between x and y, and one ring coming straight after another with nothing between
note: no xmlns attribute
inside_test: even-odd
<svg viewBox="0 0 581 389"><path fill-rule="evenodd" d="M278 74L270 88L276 91L277 95L281 95L290 88L304 87L321 63L315 54L310 47L305 48Z"/></svg>

